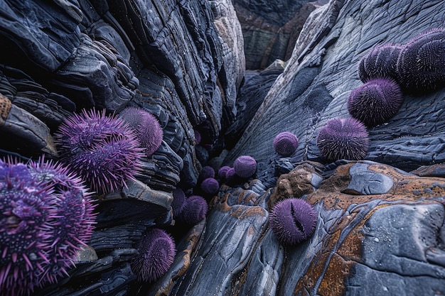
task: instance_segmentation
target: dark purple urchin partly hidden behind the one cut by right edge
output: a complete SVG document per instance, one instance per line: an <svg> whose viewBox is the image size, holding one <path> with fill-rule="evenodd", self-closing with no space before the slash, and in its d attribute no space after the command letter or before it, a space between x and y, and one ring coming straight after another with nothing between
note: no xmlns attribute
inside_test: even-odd
<svg viewBox="0 0 445 296"><path fill-rule="evenodd" d="M376 45L358 63L358 76L362 82L375 78L397 79L397 59L402 46L392 43Z"/></svg>

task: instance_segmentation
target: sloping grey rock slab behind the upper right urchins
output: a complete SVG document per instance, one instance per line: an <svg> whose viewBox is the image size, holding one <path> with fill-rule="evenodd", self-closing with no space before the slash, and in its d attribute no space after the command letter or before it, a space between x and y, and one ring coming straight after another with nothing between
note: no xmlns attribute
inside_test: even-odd
<svg viewBox="0 0 445 296"><path fill-rule="evenodd" d="M300 140L290 158L292 163L324 162L316 147L318 129L329 119L349 116L348 95L362 84L357 71L360 58L377 44L403 44L443 23L440 12L445 11L445 4L441 1L431 5L410 3L401 8L395 2L330 1L314 11L284 73L225 162L248 154L259 163L267 163L274 154L272 139L283 128ZM434 23L426 21L430 18ZM365 159L407 171L444 161L444 121L440 116L444 92L439 89L416 97L404 95L396 116L368 130L370 150ZM257 134L261 136L252 137Z"/></svg>

